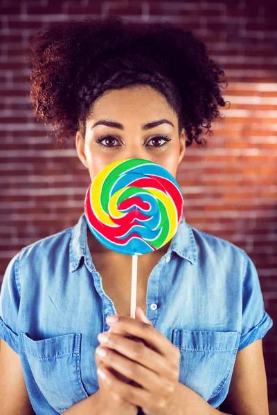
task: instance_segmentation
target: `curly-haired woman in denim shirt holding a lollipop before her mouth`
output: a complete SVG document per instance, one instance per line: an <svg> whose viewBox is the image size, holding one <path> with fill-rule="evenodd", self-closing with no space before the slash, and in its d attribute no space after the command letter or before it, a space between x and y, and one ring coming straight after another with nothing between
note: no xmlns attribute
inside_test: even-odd
<svg viewBox="0 0 277 415"><path fill-rule="evenodd" d="M186 147L206 142L201 127L209 131L226 104L224 72L204 44L168 23L69 21L37 33L29 57L35 114L59 145L75 137L91 181L123 158L176 176ZM183 218L172 241L139 258L134 320L132 258L87 231L83 213L8 265L4 413L268 414L262 338L273 322L246 252Z"/></svg>

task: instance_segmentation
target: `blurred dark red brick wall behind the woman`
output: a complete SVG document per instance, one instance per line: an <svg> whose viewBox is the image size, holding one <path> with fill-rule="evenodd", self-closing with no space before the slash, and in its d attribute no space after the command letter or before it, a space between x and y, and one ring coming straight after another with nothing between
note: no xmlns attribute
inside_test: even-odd
<svg viewBox="0 0 277 415"><path fill-rule="evenodd" d="M54 149L54 138L47 138L30 110L22 57L30 37L49 22L86 15L153 22L166 17L190 28L224 68L229 81L224 98L231 107L213 123L206 149L189 147L179 166L186 221L246 250L258 269L265 308L276 321L263 346L271 414L277 413L277 5L268 0L0 4L0 282L22 247L78 221L89 185L75 143Z"/></svg>

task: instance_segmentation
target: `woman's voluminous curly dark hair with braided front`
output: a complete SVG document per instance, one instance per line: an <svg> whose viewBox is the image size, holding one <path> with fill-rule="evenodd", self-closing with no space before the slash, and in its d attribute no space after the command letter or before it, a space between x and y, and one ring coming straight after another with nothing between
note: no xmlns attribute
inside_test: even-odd
<svg viewBox="0 0 277 415"><path fill-rule="evenodd" d="M78 129L84 138L93 102L110 89L148 84L159 91L177 114L179 136L186 131L186 146L193 140L206 145L199 139L201 127L213 135L211 120L226 104L220 94L224 71L190 30L169 21L134 24L119 16L64 21L40 30L26 58L35 115L51 124L58 147Z"/></svg>

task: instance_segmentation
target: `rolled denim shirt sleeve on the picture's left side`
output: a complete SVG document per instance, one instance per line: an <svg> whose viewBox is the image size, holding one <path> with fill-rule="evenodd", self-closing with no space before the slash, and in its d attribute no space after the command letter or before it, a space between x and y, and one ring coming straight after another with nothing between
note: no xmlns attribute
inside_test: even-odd
<svg viewBox="0 0 277 415"><path fill-rule="evenodd" d="M10 260L0 291L0 338L19 354L17 317L20 302L19 255Z"/></svg>

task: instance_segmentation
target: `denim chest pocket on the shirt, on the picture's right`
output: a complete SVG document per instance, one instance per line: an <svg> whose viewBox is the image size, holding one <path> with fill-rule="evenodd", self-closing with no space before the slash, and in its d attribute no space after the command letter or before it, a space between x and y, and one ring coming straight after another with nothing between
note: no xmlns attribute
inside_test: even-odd
<svg viewBox="0 0 277 415"><path fill-rule="evenodd" d="M209 403L231 381L239 341L238 331L173 329L172 342L180 350L179 382Z"/></svg>

